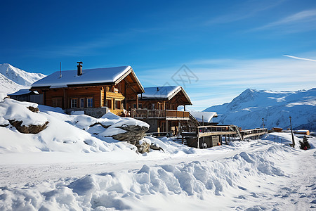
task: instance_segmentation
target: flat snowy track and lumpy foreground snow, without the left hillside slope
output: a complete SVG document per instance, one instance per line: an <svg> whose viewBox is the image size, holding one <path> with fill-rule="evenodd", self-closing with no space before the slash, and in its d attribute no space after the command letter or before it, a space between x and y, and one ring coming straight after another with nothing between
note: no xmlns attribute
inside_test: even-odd
<svg viewBox="0 0 316 211"><path fill-rule="evenodd" d="M291 142L290 137L268 134L259 141L235 141L229 146L201 150L165 139L165 146L178 151L161 156L118 152L3 153L0 207L315 210L315 148L290 148L284 144ZM274 139L282 139L282 145ZM315 146L316 139L309 141Z"/></svg>

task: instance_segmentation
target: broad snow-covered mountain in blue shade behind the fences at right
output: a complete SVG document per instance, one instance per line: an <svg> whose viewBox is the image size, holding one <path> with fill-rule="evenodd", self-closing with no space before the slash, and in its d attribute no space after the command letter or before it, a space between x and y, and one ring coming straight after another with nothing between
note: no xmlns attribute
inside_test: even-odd
<svg viewBox="0 0 316 211"><path fill-rule="evenodd" d="M316 131L316 88L300 91L257 91L246 89L230 103L211 106L204 111L218 113L214 121L235 124L243 129L289 128L289 116L296 129Z"/></svg>

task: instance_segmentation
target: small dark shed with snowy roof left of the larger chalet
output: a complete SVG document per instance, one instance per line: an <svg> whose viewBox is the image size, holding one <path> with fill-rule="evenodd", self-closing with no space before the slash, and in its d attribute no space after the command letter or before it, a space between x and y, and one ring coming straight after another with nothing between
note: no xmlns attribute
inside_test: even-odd
<svg viewBox="0 0 316 211"><path fill-rule="evenodd" d="M8 94L9 98L16 101L27 101L37 104L43 104L43 96L38 91L30 91L29 89L20 89L15 93Z"/></svg>

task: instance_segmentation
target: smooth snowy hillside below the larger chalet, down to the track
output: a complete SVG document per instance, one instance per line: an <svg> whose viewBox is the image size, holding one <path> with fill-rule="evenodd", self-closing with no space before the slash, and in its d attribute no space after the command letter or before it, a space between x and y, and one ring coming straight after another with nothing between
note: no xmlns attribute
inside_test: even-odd
<svg viewBox="0 0 316 211"><path fill-rule="evenodd" d="M33 113L27 108L29 106L37 108L38 105L10 98L0 103L0 124L3 126L0 127L0 153L131 151L129 144L119 143L112 138L99 139L85 131L88 125L99 121L96 118L87 115L66 115L62 110L48 106L39 106L39 113ZM39 134L21 134L15 127L11 127L8 120L22 121L22 125L26 126L49 123ZM107 125L119 121L121 119L100 119L100 122ZM131 121L131 124L137 123Z"/></svg>

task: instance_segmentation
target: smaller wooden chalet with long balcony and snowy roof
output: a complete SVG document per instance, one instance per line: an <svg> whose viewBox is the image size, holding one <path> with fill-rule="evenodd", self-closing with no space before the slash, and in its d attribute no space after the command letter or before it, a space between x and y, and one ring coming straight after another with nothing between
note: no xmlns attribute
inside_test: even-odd
<svg viewBox="0 0 316 211"><path fill-rule="evenodd" d="M138 102L131 102L131 117L150 124L148 132L177 134L181 125L191 120L185 106L192 103L182 87L147 87L144 90L143 94L138 94ZM184 106L184 110L178 110L178 106Z"/></svg>

